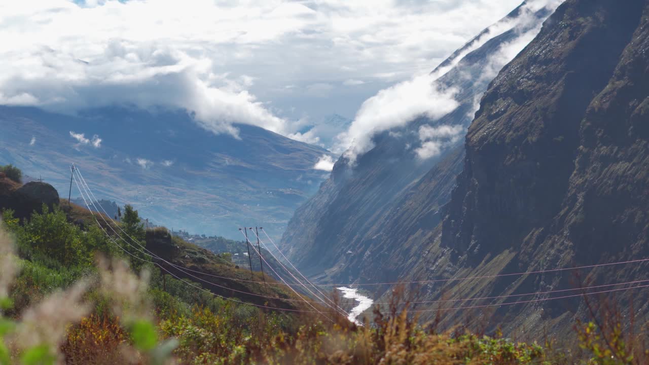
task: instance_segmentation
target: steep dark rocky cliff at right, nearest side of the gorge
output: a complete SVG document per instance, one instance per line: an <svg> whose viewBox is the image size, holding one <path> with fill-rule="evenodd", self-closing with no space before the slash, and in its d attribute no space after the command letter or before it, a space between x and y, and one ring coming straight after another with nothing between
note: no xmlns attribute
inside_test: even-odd
<svg viewBox="0 0 649 365"><path fill-rule="evenodd" d="M434 280L604 264L649 256L649 2L568 0L489 86L469 127L441 238L402 279ZM648 279L646 263L428 283L426 299L526 294ZM619 288L619 287L617 287ZM472 305L547 299L535 294ZM643 290L611 294L637 323ZM597 301L597 297L591 300ZM454 307L449 305L448 307ZM425 309L425 308L421 308ZM580 297L502 305L483 325L560 336ZM626 313L626 312L625 312ZM450 324L473 315L445 312ZM430 319L434 313L423 313ZM644 317L643 317L644 316ZM466 318L464 318L466 319Z"/></svg>

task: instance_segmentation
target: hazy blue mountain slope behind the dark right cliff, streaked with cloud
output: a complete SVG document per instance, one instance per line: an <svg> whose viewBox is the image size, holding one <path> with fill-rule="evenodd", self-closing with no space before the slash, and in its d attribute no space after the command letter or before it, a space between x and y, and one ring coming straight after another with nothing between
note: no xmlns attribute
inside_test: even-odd
<svg viewBox="0 0 649 365"><path fill-rule="evenodd" d="M408 250L411 238L425 236L443 218L439 208L450 199L462 168L461 135L489 76L504 66L504 51L536 34L550 12L523 3L432 72L439 75L439 87L456 89L455 110L437 120L421 117L380 133L373 138L374 148L354 163L345 157L336 162L330 178L298 208L282 238L300 270L337 283L363 281L365 270L372 279L397 275L389 269L397 251ZM439 155L422 159L415 153L422 130L455 134L443 141ZM406 214L404 207L417 211Z"/></svg>

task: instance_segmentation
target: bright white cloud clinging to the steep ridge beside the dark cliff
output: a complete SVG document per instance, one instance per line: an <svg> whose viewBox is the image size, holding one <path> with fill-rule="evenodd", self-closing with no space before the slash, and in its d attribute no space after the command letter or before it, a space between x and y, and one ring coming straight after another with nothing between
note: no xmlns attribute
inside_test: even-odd
<svg viewBox="0 0 649 365"><path fill-rule="evenodd" d="M408 81L398 82L389 88L380 90L376 95L365 100L356 113L354 121L349 129L341 132L334 145L334 151L343 153L350 162L356 160L358 155L373 148L372 138L384 131L390 131L397 127L403 127L411 121L425 116L429 120L435 120L448 114L459 106L456 101L456 94L459 90L445 88L438 84L439 77L445 75L450 69L456 66L463 57L484 45L493 37L503 32L513 30L518 36L511 42L501 45L498 50L487 59L487 66L477 82L485 82L493 79L509 61L511 61L527 45L541 29L541 22L534 17L534 13L543 7L554 10L562 3L562 0L529 0L524 6L520 15L512 19L504 19L487 28L481 34L469 42L463 51L444 67L440 67L434 73L426 73L412 77ZM476 99L472 114L478 109L480 99ZM421 133L445 133L456 132L451 126L443 126L442 129L424 128ZM459 126L461 127L461 126ZM443 136L448 138L449 136ZM459 138L453 133L450 139ZM439 138L424 138L422 145L415 149L419 158L430 158L441 153L443 147L451 142L440 142Z"/></svg>

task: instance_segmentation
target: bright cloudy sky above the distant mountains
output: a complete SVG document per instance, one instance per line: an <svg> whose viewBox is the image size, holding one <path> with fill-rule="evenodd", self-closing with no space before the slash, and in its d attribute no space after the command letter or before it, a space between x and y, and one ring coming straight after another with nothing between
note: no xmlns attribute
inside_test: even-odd
<svg viewBox="0 0 649 365"><path fill-rule="evenodd" d="M249 123L319 143L297 132L334 113L371 115L380 100L364 101L417 86L417 75L521 2L3 1L0 104L164 105L217 133ZM422 105L443 92L419 86Z"/></svg>

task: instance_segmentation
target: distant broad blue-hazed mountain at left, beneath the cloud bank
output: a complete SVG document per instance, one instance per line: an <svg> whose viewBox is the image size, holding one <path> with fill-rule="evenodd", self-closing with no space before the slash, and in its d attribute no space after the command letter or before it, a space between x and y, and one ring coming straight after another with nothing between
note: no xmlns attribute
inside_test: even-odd
<svg viewBox="0 0 649 365"><path fill-rule="evenodd" d="M330 153L259 127L236 128L240 139L216 135L184 111L110 107L69 116L5 106L0 163L66 193L75 163L97 199L130 203L157 225L240 238L237 228L254 223L278 236L323 180L312 167Z"/></svg>

